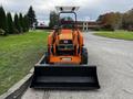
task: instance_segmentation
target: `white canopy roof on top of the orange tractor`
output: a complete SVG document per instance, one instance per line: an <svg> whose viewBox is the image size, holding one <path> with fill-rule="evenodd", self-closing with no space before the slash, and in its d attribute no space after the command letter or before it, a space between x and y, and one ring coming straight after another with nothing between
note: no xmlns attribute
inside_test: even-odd
<svg viewBox="0 0 133 99"><path fill-rule="evenodd" d="M60 12L74 12L78 11L80 7L55 7L57 11Z"/></svg>

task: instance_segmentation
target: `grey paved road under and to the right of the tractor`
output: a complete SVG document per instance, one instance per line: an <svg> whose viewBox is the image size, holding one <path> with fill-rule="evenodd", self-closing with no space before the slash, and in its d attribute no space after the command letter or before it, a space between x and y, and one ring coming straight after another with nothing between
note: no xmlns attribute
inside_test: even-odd
<svg viewBox="0 0 133 99"><path fill-rule="evenodd" d="M22 99L133 99L133 42L84 33L89 64L98 66L100 90L45 91L28 89Z"/></svg>

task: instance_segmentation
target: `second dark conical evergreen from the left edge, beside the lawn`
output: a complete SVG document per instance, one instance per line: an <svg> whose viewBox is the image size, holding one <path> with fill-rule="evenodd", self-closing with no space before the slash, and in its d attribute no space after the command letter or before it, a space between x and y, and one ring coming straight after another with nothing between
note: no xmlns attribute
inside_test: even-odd
<svg viewBox="0 0 133 99"><path fill-rule="evenodd" d="M12 16L10 12L7 13L7 23L8 23L8 33L13 34L14 28L13 28Z"/></svg>

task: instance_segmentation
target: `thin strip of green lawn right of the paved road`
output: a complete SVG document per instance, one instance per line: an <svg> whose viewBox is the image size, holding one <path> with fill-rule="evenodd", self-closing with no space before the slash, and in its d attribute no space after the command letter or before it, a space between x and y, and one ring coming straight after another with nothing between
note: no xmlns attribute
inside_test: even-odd
<svg viewBox="0 0 133 99"><path fill-rule="evenodd" d="M133 41L133 32L127 32L127 31L115 31L115 32L100 31L94 33L94 35Z"/></svg>

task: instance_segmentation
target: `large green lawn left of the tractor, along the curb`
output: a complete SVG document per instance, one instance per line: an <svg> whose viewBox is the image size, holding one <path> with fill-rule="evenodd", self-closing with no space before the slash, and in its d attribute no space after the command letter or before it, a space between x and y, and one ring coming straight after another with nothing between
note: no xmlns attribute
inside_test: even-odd
<svg viewBox="0 0 133 99"><path fill-rule="evenodd" d="M0 95L23 78L43 55L45 32L0 36Z"/></svg>

